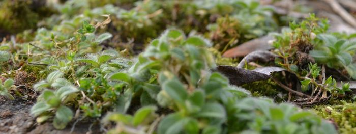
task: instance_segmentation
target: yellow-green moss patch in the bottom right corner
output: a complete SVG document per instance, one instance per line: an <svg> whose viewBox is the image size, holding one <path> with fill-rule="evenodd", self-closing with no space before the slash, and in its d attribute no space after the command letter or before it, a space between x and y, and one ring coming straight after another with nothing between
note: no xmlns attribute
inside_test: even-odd
<svg viewBox="0 0 356 134"><path fill-rule="evenodd" d="M339 104L318 105L313 110L321 117L335 122L340 133L356 133L356 102L340 100Z"/></svg>

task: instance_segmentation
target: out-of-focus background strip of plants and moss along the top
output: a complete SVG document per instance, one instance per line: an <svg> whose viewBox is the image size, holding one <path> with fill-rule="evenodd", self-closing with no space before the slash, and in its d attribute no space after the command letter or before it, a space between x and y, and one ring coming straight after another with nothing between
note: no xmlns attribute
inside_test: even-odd
<svg viewBox="0 0 356 134"><path fill-rule="evenodd" d="M257 4L241 6L250 2ZM240 3L240 6L230 3ZM279 32L290 21L302 20L310 13L328 18L332 32L356 32L356 1L353 0L2 0L0 40L9 40L11 35L21 33L13 37L23 42L26 39L21 37L31 35L37 28L52 29L65 23L62 20L75 19L78 14L90 19L105 19L98 16L110 14L112 22L106 30L115 35L116 42L141 46L174 26L185 32L204 34L213 41L219 40L217 44L236 45L269 32ZM219 32L227 34L221 37ZM221 38L229 40L221 41Z"/></svg>

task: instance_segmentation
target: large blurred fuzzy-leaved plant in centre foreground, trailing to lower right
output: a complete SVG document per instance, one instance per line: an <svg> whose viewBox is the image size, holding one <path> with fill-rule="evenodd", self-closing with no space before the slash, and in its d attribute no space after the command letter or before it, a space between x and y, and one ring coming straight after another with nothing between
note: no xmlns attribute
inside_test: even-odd
<svg viewBox="0 0 356 134"><path fill-rule="evenodd" d="M229 85L223 75L209 73L215 64L204 49L206 45L209 43L204 39L187 38L178 30L167 30L153 40L128 73L118 72L110 77L124 82L128 86L126 91L133 94L123 103L124 113L133 96L140 96L141 104L149 101L151 105L172 110L159 121L157 133L294 133L299 130L336 133L331 124L318 117L310 118L315 117L310 112L298 112L288 104L276 106L271 100L250 98L244 89ZM254 106L256 104L260 105ZM130 115L113 114L111 121L117 123L111 132L147 132L150 127L145 123L141 124L143 127L131 124ZM292 124L288 126L290 129L284 129L287 124Z"/></svg>

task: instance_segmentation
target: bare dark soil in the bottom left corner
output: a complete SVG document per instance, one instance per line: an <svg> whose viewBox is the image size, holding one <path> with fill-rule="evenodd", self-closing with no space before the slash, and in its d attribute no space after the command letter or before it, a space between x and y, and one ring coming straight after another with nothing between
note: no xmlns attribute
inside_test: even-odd
<svg viewBox="0 0 356 134"><path fill-rule="evenodd" d="M31 106L35 104L36 100L22 100L15 97L15 100L9 100L0 96L0 133L56 133L64 134L70 133L73 122L68 124L63 130L56 130L51 121L39 124L36 118L29 114ZM100 133L99 127L94 125L92 132L90 122L79 122L76 124L72 133Z"/></svg>

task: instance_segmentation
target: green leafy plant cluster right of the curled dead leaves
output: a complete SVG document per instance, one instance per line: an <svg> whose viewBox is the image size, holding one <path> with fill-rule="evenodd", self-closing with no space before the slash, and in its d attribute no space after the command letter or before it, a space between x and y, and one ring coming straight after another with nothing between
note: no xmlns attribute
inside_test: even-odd
<svg viewBox="0 0 356 134"><path fill-rule="evenodd" d="M352 93L348 83L338 87L336 80L325 73L325 68L346 68L349 76L354 77L351 55L355 44L327 34L328 27L327 20L311 14L300 23L291 22L289 28L275 34L273 42L274 52L280 56L275 63L300 79L303 92L311 91L310 103L318 98L325 101L345 96L345 92Z"/></svg>

